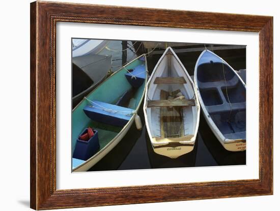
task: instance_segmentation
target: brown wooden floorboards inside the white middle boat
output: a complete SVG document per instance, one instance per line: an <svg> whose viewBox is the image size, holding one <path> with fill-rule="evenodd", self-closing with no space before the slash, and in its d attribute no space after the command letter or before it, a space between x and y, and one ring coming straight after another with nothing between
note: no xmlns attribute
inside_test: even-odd
<svg viewBox="0 0 280 211"><path fill-rule="evenodd" d="M169 93L161 90L160 100L166 100ZM160 135L162 138L176 138L183 134L182 107L160 107Z"/></svg>

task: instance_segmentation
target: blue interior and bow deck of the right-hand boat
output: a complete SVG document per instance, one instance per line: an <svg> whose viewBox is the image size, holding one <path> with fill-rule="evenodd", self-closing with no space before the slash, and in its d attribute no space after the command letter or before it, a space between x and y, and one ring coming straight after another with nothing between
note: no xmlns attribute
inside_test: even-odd
<svg viewBox="0 0 280 211"><path fill-rule="evenodd" d="M227 139L246 139L246 88L237 74L209 51L197 69L203 103L219 131Z"/></svg>

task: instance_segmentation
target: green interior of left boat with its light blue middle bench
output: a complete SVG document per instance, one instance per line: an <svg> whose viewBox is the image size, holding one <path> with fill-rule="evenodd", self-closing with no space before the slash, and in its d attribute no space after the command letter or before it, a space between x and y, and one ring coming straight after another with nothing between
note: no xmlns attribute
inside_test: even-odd
<svg viewBox="0 0 280 211"><path fill-rule="evenodd" d="M145 81L145 59L136 59L126 66L126 69L140 68L145 72ZM133 87L125 75L127 73L126 69L123 68L117 73L114 73L114 75L107 78L87 96L87 99L94 103L83 99L73 110L72 119L75 119L75 122L72 120L72 156L76 139L85 128L91 127L98 131L99 152L120 133L124 125L130 120L131 114L133 114L141 102L145 90L145 83L143 82L139 87ZM103 109L97 108L98 105ZM88 115L84 112L85 110L92 112ZM83 160L72 158L72 169L84 162Z"/></svg>

